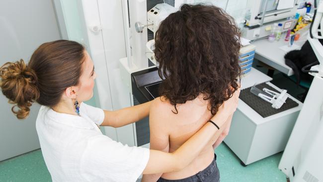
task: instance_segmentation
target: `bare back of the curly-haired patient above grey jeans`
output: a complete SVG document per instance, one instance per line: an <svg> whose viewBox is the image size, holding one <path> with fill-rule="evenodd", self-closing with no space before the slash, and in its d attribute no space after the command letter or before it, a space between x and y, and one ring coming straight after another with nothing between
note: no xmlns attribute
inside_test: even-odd
<svg viewBox="0 0 323 182"><path fill-rule="evenodd" d="M168 134L168 151L166 152L171 153L178 149L212 117L211 111L208 108L209 102L208 100L203 100L202 94L194 100L187 101L184 104L178 104L176 106L178 110L177 114L172 112L172 110L175 111L174 106L172 106L167 99L160 99L158 102L159 103L155 104L159 105L158 108L160 114L154 114L154 117L167 116L167 121L164 121L161 126L163 128L163 133L159 134ZM150 124L160 125L160 122ZM159 138L159 136L155 137ZM168 180L183 179L204 170L214 159L214 150L212 145L216 141L216 138L217 137L215 135L214 140L210 141L199 156L186 168L178 172L164 173L161 178ZM151 143L151 145L154 146L155 144Z"/></svg>

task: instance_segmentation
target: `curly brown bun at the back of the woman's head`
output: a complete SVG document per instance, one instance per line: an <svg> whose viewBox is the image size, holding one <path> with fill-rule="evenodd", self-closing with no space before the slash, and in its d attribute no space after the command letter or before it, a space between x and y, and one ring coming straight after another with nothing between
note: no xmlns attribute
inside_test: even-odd
<svg viewBox="0 0 323 182"><path fill-rule="evenodd" d="M5 63L0 68L0 88L9 103L16 104L11 110L18 119L29 115L29 107L39 98L36 73L21 59L15 63ZM15 110L18 107L18 110Z"/></svg>

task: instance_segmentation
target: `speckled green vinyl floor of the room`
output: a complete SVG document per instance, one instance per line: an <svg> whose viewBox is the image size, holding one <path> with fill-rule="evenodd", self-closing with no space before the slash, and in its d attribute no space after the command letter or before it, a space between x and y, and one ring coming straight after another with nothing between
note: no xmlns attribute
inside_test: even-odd
<svg viewBox="0 0 323 182"><path fill-rule="evenodd" d="M225 145L216 149L221 182L286 182L278 169L282 153L270 156L246 167ZM40 150L0 162L0 182L51 182Z"/></svg>

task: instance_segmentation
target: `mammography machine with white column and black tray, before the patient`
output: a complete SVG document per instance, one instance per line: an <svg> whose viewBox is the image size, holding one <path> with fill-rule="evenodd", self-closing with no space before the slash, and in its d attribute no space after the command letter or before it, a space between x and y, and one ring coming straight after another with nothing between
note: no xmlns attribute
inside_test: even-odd
<svg viewBox="0 0 323 182"><path fill-rule="evenodd" d="M126 46L127 52L131 53L127 55L132 56L120 59L119 67L122 82L130 93L132 105L147 102L158 96L161 78L157 73L157 62L152 55L153 51L148 51L147 45L150 45L150 49L154 49L154 36L160 22L170 13L177 11L174 1L169 2L171 5L161 2L158 0L131 0L129 6L125 8L129 8L130 17L125 21L126 24L130 24L130 34L127 37L129 44ZM124 12L127 14L127 11ZM134 144L137 146L148 147L149 119L142 119L132 125L133 132L125 133L124 137L133 138Z"/></svg>

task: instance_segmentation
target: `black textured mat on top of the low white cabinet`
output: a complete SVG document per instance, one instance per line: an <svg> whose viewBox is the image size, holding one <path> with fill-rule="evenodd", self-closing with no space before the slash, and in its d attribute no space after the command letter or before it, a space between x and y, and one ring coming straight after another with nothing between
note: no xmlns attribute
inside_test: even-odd
<svg viewBox="0 0 323 182"><path fill-rule="evenodd" d="M277 91L274 88L270 87L266 83L256 85L256 88L262 90L263 88L267 88L271 91ZM279 108L274 109L271 107L271 103L261 99L260 97L254 95L250 92L251 87L243 89L240 92L239 98L242 99L247 105L249 105L253 110L255 110L258 114L260 114L262 117L268 117L274 114L277 114L279 112L285 111L287 109L297 107L298 103L292 100L291 98L287 98L286 102ZM277 91L279 92L279 91ZM288 91L287 91L288 93Z"/></svg>

